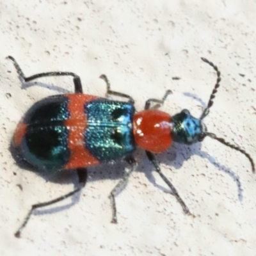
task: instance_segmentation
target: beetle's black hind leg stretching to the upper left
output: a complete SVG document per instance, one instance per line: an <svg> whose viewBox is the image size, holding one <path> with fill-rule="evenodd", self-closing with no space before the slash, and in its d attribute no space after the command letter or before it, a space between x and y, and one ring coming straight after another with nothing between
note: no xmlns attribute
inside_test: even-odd
<svg viewBox="0 0 256 256"><path fill-rule="evenodd" d="M33 76L29 76L26 77L24 75L24 73L22 72L22 69L20 68L19 64L17 63L17 61L15 60L15 58L13 58L12 56L8 56L6 57L8 60L12 60L17 73L19 74L20 77L22 77L22 79L25 82L29 82L29 81L33 81L35 79L38 79L40 77L48 77L48 76L72 76L73 81L74 81L74 86L75 86L75 93L83 93L83 88L82 88L82 83L81 83L81 79L79 76L77 76L75 73L72 72L61 72L61 71L56 71L56 72L44 72L44 73L40 73L40 74L35 74Z"/></svg>

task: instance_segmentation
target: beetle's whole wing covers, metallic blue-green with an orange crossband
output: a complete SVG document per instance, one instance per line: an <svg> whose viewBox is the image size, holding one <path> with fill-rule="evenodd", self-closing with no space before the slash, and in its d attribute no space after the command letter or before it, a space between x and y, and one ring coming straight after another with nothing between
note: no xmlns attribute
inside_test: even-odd
<svg viewBox="0 0 256 256"><path fill-rule="evenodd" d="M76 164L70 161L77 150L69 145L82 145L79 155L84 164L115 160L134 151L132 104L102 98L91 100L88 95L73 98L72 95L47 97L28 110L22 120L26 133L17 142L28 163L48 170L75 168ZM74 116L72 106L80 105ZM81 138L74 141L79 132L83 132L83 141Z"/></svg>

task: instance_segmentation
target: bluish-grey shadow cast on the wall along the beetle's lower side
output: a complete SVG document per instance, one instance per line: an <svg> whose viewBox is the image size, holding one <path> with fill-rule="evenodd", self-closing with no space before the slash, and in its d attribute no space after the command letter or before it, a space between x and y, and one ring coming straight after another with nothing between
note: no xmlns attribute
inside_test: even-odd
<svg viewBox="0 0 256 256"><path fill-rule="evenodd" d="M77 186L78 179L77 179L77 173L75 170L65 170L65 171L56 171L56 172L52 172L50 170L38 170L35 167L31 166L31 164L26 163L26 161L24 161L24 159L22 159L22 157L20 157L20 155L17 154L17 150L14 147L10 147L10 150L12 152L13 158L15 159L17 165L20 168L29 170L31 172L35 172L47 182L53 182L58 184L73 183L75 187ZM156 186L156 188L160 189L165 193L172 194L172 191L170 191L170 189L166 189L163 186L157 184L156 179L152 173L154 171L154 166L150 163L150 161L147 161L147 157L145 155L143 156L142 154L140 154L141 151L142 150L139 150L139 158L142 158L141 159L142 161L138 163L138 167L136 168L136 171L145 173L145 176L147 177L149 182L152 183L154 186ZM176 152L179 152L179 154L176 154ZM202 151L201 143L196 143L195 145L192 145L190 147L189 146L184 147L184 145L175 144L173 145L172 150L170 152L166 152L166 154L161 154L157 156L157 159L159 160L159 163L167 164L168 166L172 166L173 168L175 168L175 170L179 170L180 168L182 168L184 161L188 161L189 158L191 158L194 155L207 159L209 163L216 166L218 170L220 170L221 172L227 173L234 180L234 182L236 182L237 195L238 195L239 201L243 200L243 189L242 189L239 177L236 175L236 173L232 172L232 170L218 163L214 159L214 157L209 156L207 152ZM125 163L125 161L118 161L117 163L115 163L115 165L113 162L113 163L100 164L100 166L91 166L90 168L88 168L89 169L88 182L108 179L108 180L116 180L116 184L117 184L118 180L124 177L125 168L129 168L129 164ZM121 191L123 191L126 185L127 184L125 184L123 188L120 188L116 195L118 195ZM85 186L85 189L86 189L86 186ZM70 197L71 202L69 202L68 204L60 205L57 207L52 205L52 207L49 209L36 209L33 214L35 215L54 214L60 211L67 210L79 202L80 196L81 196L81 191L71 196Z"/></svg>

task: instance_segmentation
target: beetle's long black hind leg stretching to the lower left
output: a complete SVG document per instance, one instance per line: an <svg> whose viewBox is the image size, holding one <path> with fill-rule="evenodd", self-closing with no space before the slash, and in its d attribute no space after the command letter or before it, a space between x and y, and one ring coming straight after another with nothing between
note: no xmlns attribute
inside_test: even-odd
<svg viewBox="0 0 256 256"><path fill-rule="evenodd" d="M87 179L87 170L86 168L77 168L77 175L78 175L78 178L79 178L79 188L76 188L74 189L73 191L71 191L70 193L67 193L66 195L63 195L63 196L60 196L58 198L55 198L51 201L48 201L48 202L44 202L44 203L39 203L39 204L34 204L31 206L31 209L30 211L28 212L26 218L24 219L22 225L20 226L20 228L17 230L17 232L15 233L15 237L20 237L20 234L23 230L24 227L26 227L26 225L28 224L28 221L31 217L31 215L33 214L33 211L35 209L38 209L40 207L45 207L45 206L48 206L48 205L52 205L52 204L55 204L57 202L60 202L62 200L65 200L66 198L78 193L79 191L81 191L81 189L85 186L86 184L86 179Z"/></svg>

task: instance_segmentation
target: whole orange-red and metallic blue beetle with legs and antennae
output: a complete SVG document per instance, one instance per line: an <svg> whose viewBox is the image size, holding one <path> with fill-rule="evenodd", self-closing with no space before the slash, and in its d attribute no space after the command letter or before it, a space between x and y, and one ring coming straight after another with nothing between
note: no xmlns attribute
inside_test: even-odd
<svg viewBox="0 0 256 256"><path fill-rule="evenodd" d="M136 146L145 150L156 172L171 189L186 214L191 214L187 205L170 180L161 172L156 159L156 154L166 151L172 145L172 141L192 145L208 136L244 154L252 165L252 171L255 172L253 159L246 151L208 132L203 124L221 81L218 67L205 58L202 60L214 68L217 80L200 118L192 116L188 109L170 116L152 108L152 104L162 105L172 93L170 90L166 91L163 99L148 99L144 111L135 113L132 97L112 91L108 77L104 74L100 78L106 82L107 96L123 97L126 101L83 94L81 79L72 72L45 72L26 77L17 61L12 56L7 58L13 62L17 73L25 83L40 77L71 76L75 91L46 97L36 102L26 112L14 132L13 147L19 152L22 160L37 168L39 172L74 169L79 177L79 186L70 193L48 202L32 205L22 225L15 232L16 237L20 237L35 209L55 204L79 192L86 184L87 167L124 158L131 168L125 172L124 177L109 195L112 208L111 222L116 223L115 196L136 169L137 163L133 157Z"/></svg>

